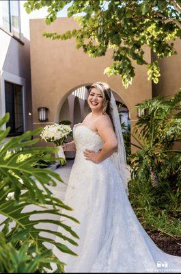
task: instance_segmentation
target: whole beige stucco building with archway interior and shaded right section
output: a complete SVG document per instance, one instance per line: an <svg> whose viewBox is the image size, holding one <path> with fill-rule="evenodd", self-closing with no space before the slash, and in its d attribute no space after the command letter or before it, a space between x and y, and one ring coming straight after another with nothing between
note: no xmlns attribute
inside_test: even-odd
<svg viewBox="0 0 181 274"><path fill-rule="evenodd" d="M68 29L78 27L73 18L57 18L51 25L46 25L44 19L30 21L31 36L31 87L33 105L33 127L45 126L48 123L58 123L68 119L79 123L84 119L89 107L87 105L87 87L94 82L107 82L113 90L115 99L128 109L130 129L137 121L137 112L133 108L144 99L150 99L158 93L173 94L180 88L181 60L179 55L161 60L161 82L152 85L148 81L147 66L136 63L133 84L127 89L122 86L120 76L108 77L103 74L112 63L111 50L100 58L90 58L82 49L76 49L76 42L71 40L51 40L44 38L44 32L64 33ZM154 59L150 48L143 47L145 59ZM176 42L180 50L180 41ZM168 65L169 64L169 65ZM174 72L174 73L173 73ZM48 121L40 122L38 108L48 108ZM135 142L135 140L131 140ZM132 151L135 148L132 147Z"/></svg>

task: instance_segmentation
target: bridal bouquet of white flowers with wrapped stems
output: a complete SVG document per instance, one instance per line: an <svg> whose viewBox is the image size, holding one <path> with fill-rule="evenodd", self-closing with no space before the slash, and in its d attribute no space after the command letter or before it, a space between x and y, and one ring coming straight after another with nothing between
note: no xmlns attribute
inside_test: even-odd
<svg viewBox="0 0 181 274"><path fill-rule="evenodd" d="M61 147L61 145L68 137L70 132L72 132L70 125L59 125L54 123L53 125L46 125L46 127L44 127L40 134L42 140L44 140L45 142L53 142L59 148L57 154L59 158L64 159L63 163L66 162L66 156L64 154L64 149L63 147Z"/></svg>

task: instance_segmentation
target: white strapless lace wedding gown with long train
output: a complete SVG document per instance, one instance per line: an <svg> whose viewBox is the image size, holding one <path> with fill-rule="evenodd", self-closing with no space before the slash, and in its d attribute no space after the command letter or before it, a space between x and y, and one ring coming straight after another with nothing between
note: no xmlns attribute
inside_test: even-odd
<svg viewBox="0 0 181 274"><path fill-rule="evenodd" d="M124 184L110 158L96 164L86 160L85 149L98 151L103 141L81 123L74 125L76 157L64 202L74 211L63 210L80 224L61 217L78 234L79 246L56 238L78 256L53 249L66 262L67 273L181 272L181 257L156 247L130 205ZM72 236L64 229L64 235Z"/></svg>

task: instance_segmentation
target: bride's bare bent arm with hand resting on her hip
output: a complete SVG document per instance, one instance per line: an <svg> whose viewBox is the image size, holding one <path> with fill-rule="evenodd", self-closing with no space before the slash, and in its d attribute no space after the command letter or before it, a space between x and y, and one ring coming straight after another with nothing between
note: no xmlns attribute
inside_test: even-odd
<svg viewBox="0 0 181 274"><path fill-rule="evenodd" d="M98 134L104 141L104 145L98 153L86 149L84 151L84 155L87 160L92 160L92 162L99 163L109 158L109 156L117 150L118 143L109 116L100 116L100 118L96 121L96 127L98 129Z"/></svg>

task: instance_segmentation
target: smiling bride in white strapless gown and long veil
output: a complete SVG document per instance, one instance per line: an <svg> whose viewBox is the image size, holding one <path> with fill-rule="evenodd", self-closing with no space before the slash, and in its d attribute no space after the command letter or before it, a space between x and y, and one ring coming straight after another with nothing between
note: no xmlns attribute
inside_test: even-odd
<svg viewBox="0 0 181 274"><path fill-rule="evenodd" d="M156 247L130 206L120 117L109 86L93 84L88 103L92 112L74 125L74 140L63 143L64 151L76 151L64 202L80 222L66 219L79 245L65 245L78 256L54 248L55 256L67 273L179 273L181 258Z"/></svg>

